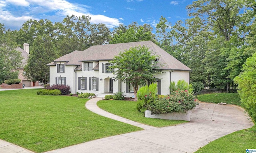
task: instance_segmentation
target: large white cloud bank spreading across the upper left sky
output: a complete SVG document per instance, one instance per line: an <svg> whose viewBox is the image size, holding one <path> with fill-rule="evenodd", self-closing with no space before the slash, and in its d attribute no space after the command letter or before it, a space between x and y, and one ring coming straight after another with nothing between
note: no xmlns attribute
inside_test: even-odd
<svg viewBox="0 0 256 153"><path fill-rule="evenodd" d="M12 8L12 11L4 12L3 9L8 10L8 4L24 6L22 8L23 12L21 10L13 11L15 7ZM54 18L62 21L62 18L65 16L74 14L75 16L90 16L93 24L103 23L110 28L122 24L122 22L116 18L110 18L100 14L91 14L88 12L88 8L90 8L90 6L73 4L67 0L6 0L5 2L0 0L0 23L4 23L5 25L10 23L10 25L13 25L13 22L20 24L18 26L20 28L21 25L29 19L44 19L47 17L49 20ZM22 12L22 14L20 14L20 12Z"/></svg>

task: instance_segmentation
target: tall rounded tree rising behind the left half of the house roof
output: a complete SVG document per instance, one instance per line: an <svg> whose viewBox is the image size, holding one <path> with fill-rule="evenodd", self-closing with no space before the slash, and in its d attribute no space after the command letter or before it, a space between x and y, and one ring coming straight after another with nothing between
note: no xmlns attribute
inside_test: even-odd
<svg viewBox="0 0 256 153"><path fill-rule="evenodd" d="M62 55L109 42L109 28L105 24L91 24L90 20L89 16L72 15L66 16L61 24L56 24L56 47Z"/></svg>

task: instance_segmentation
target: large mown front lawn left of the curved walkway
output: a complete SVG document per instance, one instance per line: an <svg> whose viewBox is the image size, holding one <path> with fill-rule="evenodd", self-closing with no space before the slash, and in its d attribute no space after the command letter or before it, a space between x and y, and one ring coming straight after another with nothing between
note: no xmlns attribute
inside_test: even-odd
<svg viewBox="0 0 256 153"><path fill-rule="evenodd" d="M0 139L39 153L141 130L90 112L88 99L37 90L0 91Z"/></svg>

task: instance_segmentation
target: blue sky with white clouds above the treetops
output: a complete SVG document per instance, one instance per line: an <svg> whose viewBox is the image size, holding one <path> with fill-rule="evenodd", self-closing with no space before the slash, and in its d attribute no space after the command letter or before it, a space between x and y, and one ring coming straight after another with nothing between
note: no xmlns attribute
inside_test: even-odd
<svg viewBox="0 0 256 153"><path fill-rule="evenodd" d="M188 18L186 6L193 0L0 0L0 23L20 29L29 19L61 22L67 15L88 15L91 23L113 28L119 24L156 26L161 16L172 25Z"/></svg>

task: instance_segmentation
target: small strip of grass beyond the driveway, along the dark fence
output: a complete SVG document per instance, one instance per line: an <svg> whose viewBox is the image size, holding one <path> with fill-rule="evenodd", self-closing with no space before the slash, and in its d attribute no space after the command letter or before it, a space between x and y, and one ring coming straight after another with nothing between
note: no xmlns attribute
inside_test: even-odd
<svg viewBox="0 0 256 153"><path fill-rule="evenodd" d="M237 93L214 93L214 94L200 94L197 98L201 102L212 102L218 104L219 102L226 102L227 104L235 104L241 106L240 98Z"/></svg>

